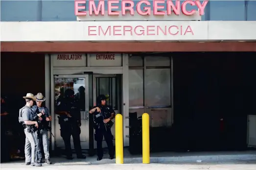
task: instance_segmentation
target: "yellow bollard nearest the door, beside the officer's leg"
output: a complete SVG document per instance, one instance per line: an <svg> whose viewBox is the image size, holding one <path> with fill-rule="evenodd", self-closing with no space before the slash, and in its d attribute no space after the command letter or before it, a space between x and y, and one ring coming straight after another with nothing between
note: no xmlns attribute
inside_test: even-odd
<svg viewBox="0 0 256 170"><path fill-rule="evenodd" d="M123 164L123 116L116 114L116 164Z"/></svg>

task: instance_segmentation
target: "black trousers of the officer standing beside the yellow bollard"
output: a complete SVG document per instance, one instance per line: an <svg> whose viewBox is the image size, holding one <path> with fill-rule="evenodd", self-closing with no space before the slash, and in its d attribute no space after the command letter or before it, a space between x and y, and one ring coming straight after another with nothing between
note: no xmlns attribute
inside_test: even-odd
<svg viewBox="0 0 256 170"><path fill-rule="evenodd" d="M108 145L109 149L109 156L113 156L115 154L114 146L113 146L113 138L114 136L111 133L110 128L105 128L104 125L100 126L98 129L95 129L94 133L94 139L97 142L97 155L98 157L103 157L103 150L102 150L102 140L103 136L105 138L105 141Z"/></svg>

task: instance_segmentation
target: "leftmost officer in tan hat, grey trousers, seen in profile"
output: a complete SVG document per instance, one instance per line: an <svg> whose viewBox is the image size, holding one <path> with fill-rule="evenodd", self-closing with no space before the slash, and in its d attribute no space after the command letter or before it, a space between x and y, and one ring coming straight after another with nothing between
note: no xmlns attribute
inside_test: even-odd
<svg viewBox="0 0 256 170"><path fill-rule="evenodd" d="M36 167L41 167L42 164L38 163L38 139L37 139L37 128L38 123L35 121L35 114L33 113L32 106L35 97L33 94L28 93L23 97L26 100L26 105L20 109L19 122L23 124L24 133L26 136L25 145L25 164ZM42 116L42 114L39 114ZM31 150L30 150L31 149ZM30 162L31 160L31 162Z"/></svg>

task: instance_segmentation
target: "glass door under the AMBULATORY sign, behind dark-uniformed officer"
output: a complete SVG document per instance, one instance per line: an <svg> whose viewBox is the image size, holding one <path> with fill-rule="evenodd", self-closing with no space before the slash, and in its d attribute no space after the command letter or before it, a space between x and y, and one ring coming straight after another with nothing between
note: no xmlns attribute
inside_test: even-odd
<svg viewBox="0 0 256 170"><path fill-rule="evenodd" d="M89 149L89 76L88 75L59 75L54 76L54 100L62 97L67 89L72 89L81 114L81 147L83 150ZM55 108L54 106L54 108ZM54 109L55 110L55 109ZM64 141L60 135L60 125L58 115L55 114L55 143L58 148L64 149ZM71 137L71 147L74 149Z"/></svg>

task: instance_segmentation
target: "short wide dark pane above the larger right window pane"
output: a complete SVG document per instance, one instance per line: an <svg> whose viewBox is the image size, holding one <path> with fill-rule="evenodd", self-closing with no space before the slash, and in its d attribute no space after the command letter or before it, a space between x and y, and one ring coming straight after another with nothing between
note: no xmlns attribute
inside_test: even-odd
<svg viewBox="0 0 256 170"><path fill-rule="evenodd" d="M170 66L169 57L148 56L145 59L146 66Z"/></svg>

